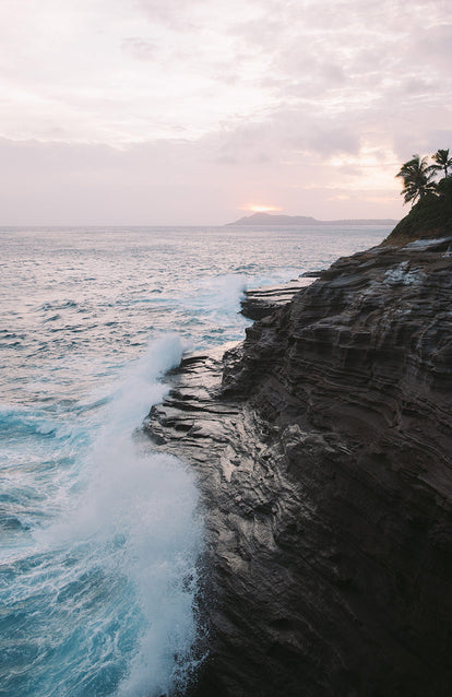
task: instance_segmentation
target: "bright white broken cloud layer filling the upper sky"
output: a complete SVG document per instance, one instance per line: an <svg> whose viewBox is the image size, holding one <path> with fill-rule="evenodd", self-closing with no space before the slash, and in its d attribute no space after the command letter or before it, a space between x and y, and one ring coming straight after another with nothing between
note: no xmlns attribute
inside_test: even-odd
<svg viewBox="0 0 452 697"><path fill-rule="evenodd" d="M451 91L442 2L21 4L2 10L4 137L201 138L287 109L310 130L309 110L353 120L386 98L393 108L396 90L426 98L430 84L430 105Z"/></svg>

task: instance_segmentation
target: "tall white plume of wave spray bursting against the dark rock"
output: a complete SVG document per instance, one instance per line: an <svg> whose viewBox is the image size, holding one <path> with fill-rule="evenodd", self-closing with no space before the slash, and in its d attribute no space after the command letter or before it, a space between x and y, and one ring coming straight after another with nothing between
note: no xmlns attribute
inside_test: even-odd
<svg viewBox="0 0 452 697"><path fill-rule="evenodd" d="M167 390L158 377L180 357L180 342L167 336L123 371L87 454L76 506L37 533L47 548L88 543L96 557L90 565L127 577L139 619L134 655L118 693L124 697L168 692L190 664L197 633L202 527L193 477L176 458L152 453L133 438L133 428Z"/></svg>

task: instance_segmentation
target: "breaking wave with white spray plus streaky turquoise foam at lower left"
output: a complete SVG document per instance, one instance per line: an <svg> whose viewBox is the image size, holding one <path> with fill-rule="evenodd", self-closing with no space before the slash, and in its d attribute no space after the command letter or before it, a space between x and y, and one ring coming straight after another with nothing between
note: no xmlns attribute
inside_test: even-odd
<svg viewBox="0 0 452 697"><path fill-rule="evenodd" d="M50 524L3 553L3 574L14 577L2 633L4 694L160 695L190 673L202 540L197 491L176 458L133 437L165 394L157 378L180 357L180 342L168 336L123 371L86 424L95 437L86 438L76 476L60 472L57 485L48 482ZM75 439L80 449L81 429L64 434L48 420L36 426L36 417L25 420L28 429L31 421L39 436L63 447Z"/></svg>

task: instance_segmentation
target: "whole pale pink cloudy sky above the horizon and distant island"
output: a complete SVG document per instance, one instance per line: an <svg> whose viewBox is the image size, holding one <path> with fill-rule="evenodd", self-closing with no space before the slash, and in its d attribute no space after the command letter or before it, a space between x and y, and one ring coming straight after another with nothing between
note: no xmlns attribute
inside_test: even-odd
<svg viewBox="0 0 452 697"><path fill-rule="evenodd" d="M407 213L450 0L1 0L0 225Z"/></svg>

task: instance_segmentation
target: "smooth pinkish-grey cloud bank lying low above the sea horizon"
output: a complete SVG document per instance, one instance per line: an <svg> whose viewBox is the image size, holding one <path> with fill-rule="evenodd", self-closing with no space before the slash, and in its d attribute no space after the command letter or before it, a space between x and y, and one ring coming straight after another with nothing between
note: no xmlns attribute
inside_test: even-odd
<svg viewBox="0 0 452 697"><path fill-rule="evenodd" d="M242 133L243 142L250 134ZM254 144L259 139L254 134ZM354 167L314 153L287 152L279 158L274 147L270 160L242 153L236 161L218 162L225 134L199 141L165 140L121 150L108 145L37 141L0 141L1 223L16 225L199 225L222 224L237 217L250 201L271 204L285 212L336 217L341 205L353 200L356 216L378 216L379 204L369 193L357 202L366 178L358 157ZM345 162L345 161L344 161ZM361 176L359 176L359 172ZM390 168L392 181L393 168ZM325 181L341 181L347 199L334 199ZM383 179L383 185L386 180ZM379 194L380 182L371 189ZM342 201L342 203L341 203ZM338 206L338 208L337 208ZM399 197L381 215L397 215ZM336 212L337 211L337 214ZM343 215L343 216L344 216ZM346 215L345 215L346 216Z"/></svg>

